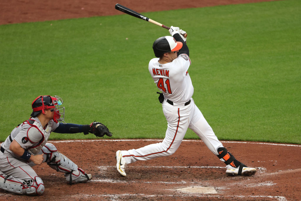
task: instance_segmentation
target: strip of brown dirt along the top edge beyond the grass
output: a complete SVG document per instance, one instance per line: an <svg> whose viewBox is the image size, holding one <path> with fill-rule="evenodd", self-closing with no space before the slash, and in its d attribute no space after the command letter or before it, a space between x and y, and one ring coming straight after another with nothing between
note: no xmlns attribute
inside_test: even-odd
<svg viewBox="0 0 301 201"><path fill-rule="evenodd" d="M0 1L0 24L123 14L115 10L116 3L137 12L147 12L268 1L273 0L173 0L172 3L160 0L2 0Z"/></svg>

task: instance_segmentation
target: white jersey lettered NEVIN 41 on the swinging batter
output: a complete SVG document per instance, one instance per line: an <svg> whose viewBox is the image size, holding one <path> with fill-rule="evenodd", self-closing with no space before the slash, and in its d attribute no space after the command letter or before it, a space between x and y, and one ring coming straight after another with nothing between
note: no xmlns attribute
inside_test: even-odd
<svg viewBox="0 0 301 201"><path fill-rule="evenodd" d="M191 99L193 86L188 74L190 64L191 61L186 54L179 55L167 64L160 64L159 58L153 58L149 62L148 70L166 99L176 103Z"/></svg>

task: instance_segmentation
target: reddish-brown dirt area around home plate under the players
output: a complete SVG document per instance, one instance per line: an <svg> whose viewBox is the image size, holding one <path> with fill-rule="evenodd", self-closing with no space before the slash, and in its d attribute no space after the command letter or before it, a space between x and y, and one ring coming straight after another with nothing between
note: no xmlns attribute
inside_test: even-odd
<svg viewBox="0 0 301 201"><path fill-rule="evenodd" d="M184 140L169 157L115 168L118 149L139 148L161 140L52 141L79 167L93 174L87 183L70 186L62 173L46 164L34 166L45 184L39 197L0 190L2 200L300 200L301 145L224 142L238 160L257 168L251 177L228 177L224 163L201 140ZM184 191L181 188L189 188ZM209 191L205 191L209 190Z"/></svg>

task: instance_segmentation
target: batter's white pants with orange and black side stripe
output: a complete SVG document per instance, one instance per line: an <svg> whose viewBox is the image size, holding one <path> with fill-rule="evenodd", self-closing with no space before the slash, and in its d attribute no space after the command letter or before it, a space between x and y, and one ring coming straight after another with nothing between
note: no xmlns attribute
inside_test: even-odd
<svg viewBox="0 0 301 201"><path fill-rule="evenodd" d="M193 130L206 144L211 152L218 155L217 149L222 143L217 139L212 128L191 98L189 105L185 103L162 103L163 113L168 122L163 142L150 144L139 149L122 151L123 160L129 164L138 160L150 160L175 153L180 146L188 128Z"/></svg>

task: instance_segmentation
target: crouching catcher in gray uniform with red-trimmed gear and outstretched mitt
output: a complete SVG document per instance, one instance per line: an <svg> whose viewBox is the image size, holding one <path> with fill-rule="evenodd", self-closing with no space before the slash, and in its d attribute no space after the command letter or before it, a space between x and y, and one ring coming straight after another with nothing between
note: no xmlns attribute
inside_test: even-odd
<svg viewBox="0 0 301 201"><path fill-rule="evenodd" d="M91 174L85 173L58 152L56 146L47 143L50 133L93 133L97 137L111 137L112 133L99 122L88 125L66 124L65 107L61 107L62 103L58 96L38 96L32 102L31 118L14 128L1 144L1 189L20 195L42 195L45 190L43 181L32 168L42 162L65 173L69 184L91 180Z"/></svg>

